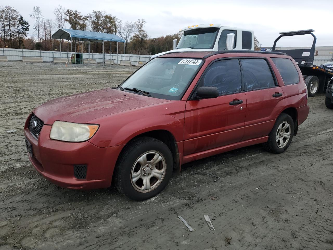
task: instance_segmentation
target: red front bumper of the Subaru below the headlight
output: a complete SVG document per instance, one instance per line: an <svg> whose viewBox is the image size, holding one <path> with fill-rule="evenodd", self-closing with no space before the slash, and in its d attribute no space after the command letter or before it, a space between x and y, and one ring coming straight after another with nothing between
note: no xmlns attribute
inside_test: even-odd
<svg viewBox="0 0 333 250"><path fill-rule="evenodd" d="M52 183L66 188L109 187L123 146L100 148L89 141L74 143L51 140L51 127L44 125L37 141L26 123L24 135L33 151L33 157L29 154L29 159L36 170ZM87 165L86 179L74 177L74 165Z"/></svg>

